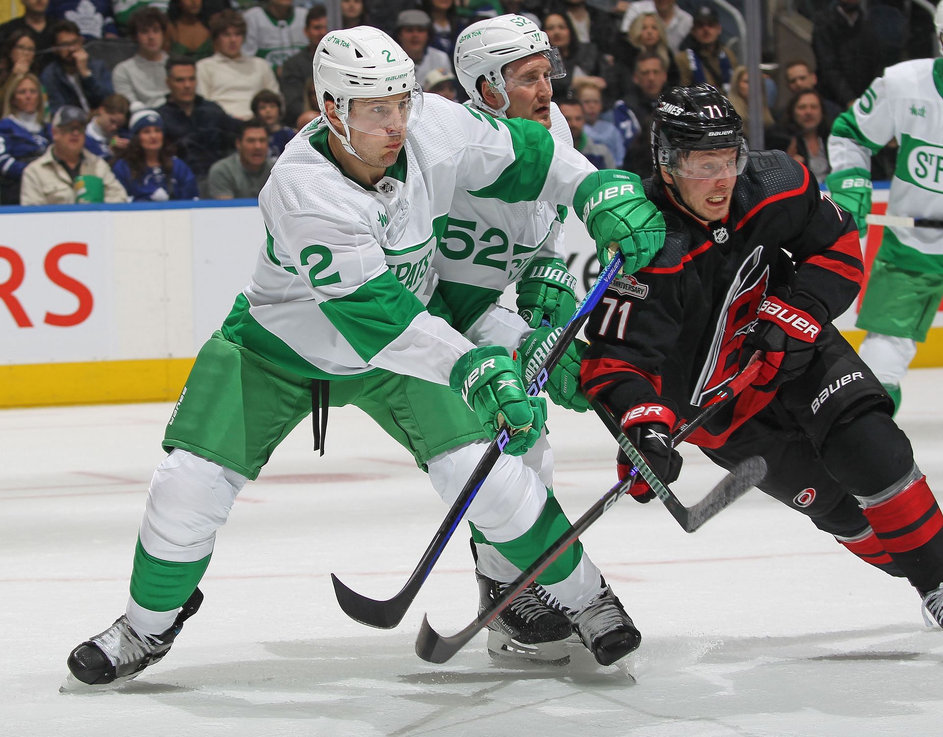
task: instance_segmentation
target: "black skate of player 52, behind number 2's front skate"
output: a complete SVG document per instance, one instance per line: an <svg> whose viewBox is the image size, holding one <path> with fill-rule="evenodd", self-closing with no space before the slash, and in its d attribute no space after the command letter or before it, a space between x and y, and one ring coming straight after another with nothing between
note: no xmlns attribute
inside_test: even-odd
<svg viewBox="0 0 943 737"><path fill-rule="evenodd" d="M510 586L477 570L475 578L478 579L479 611L490 607ZM538 584L531 584L488 625L488 654L492 658L552 665L570 662L565 646L573 631L570 620L546 604L539 595L541 591Z"/></svg>

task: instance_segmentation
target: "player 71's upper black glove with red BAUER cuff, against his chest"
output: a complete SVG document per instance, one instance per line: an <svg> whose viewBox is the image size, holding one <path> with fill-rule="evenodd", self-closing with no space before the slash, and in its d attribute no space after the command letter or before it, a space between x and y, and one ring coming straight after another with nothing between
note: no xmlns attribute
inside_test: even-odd
<svg viewBox="0 0 943 737"><path fill-rule="evenodd" d="M740 354L742 368L760 351L763 365L753 387L773 392L784 381L801 376L815 356L815 343L827 320L828 312L808 294L790 294L786 288L770 294L760 306Z"/></svg>

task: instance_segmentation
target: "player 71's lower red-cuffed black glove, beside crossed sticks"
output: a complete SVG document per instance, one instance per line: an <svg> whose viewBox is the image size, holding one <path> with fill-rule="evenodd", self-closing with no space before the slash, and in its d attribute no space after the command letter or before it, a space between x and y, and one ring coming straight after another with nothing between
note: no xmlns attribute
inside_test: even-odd
<svg viewBox="0 0 943 737"><path fill-rule="evenodd" d="M628 410L622 415L622 432L625 437L636 446L638 452L645 456L654 475L662 483L670 484L681 472L681 455L671 447L671 428L675 425L674 412L664 405L645 402ZM619 477L628 477L634 465L621 448L616 456L616 465ZM636 501L645 504L652 501L654 492L642 477L629 488L629 494Z"/></svg>

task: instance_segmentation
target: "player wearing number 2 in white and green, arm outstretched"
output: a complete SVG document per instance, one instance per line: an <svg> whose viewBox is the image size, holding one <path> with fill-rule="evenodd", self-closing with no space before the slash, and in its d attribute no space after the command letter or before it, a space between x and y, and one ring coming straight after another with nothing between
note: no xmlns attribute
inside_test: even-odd
<svg viewBox="0 0 943 737"><path fill-rule="evenodd" d="M375 28L325 36L314 79L323 117L290 142L260 194L267 237L252 280L168 423L125 612L74 648L70 685L133 678L166 655L202 600L197 584L236 495L312 409L366 411L447 504L504 425L511 440L469 520L520 568L569 527L520 458L538 439L543 400L525 393L505 348L477 347L437 316L447 311L431 268L438 236L456 189L549 200L577 207L598 246L619 248L635 270L664 243L664 219L637 180L596 172L543 126L426 97L412 61ZM580 544L538 581L598 662L637 647Z"/></svg>

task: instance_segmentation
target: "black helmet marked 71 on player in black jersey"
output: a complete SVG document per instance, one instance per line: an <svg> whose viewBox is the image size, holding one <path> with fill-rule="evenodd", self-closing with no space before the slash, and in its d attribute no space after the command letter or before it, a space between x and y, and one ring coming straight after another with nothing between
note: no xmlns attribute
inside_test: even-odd
<svg viewBox="0 0 943 737"><path fill-rule="evenodd" d="M712 178L686 175L679 169L679 152L734 147L739 175L747 163L743 120L717 88L709 84L672 87L658 98L652 119L652 157L658 178L660 166L672 176Z"/></svg>

